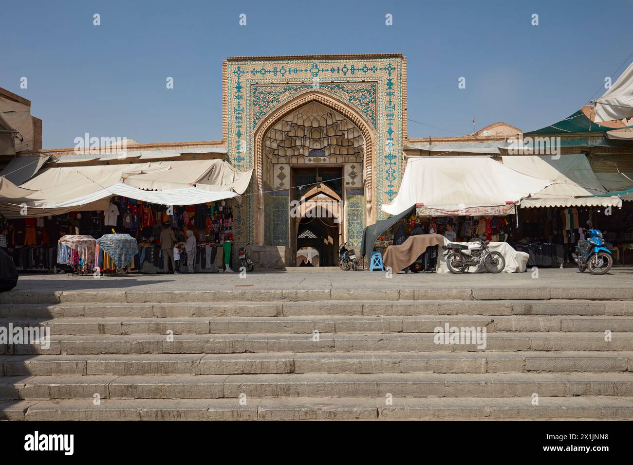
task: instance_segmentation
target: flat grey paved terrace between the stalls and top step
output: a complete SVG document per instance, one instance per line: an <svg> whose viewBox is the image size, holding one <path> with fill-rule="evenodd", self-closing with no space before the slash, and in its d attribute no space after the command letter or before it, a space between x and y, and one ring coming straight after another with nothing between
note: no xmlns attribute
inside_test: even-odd
<svg viewBox="0 0 633 465"><path fill-rule="evenodd" d="M604 276L579 273L576 268L541 268L537 277L527 273L399 274L387 278L379 271L291 268L288 271L248 273L196 273L192 275L142 275L93 278L25 273L15 291L187 291L187 290L308 290L308 289L411 289L411 288L631 288L633 267L613 268Z"/></svg>

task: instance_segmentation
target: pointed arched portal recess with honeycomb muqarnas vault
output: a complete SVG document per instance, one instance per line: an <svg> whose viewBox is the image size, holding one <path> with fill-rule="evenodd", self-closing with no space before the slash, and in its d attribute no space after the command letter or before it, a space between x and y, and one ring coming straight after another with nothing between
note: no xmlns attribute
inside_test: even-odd
<svg viewBox="0 0 633 465"><path fill-rule="evenodd" d="M305 192L317 184L335 194L327 201L335 199L339 209L332 226L339 244L350 225L356 237L373 223L373 130L344 102L318 91L300 96L261 121L254 137L260 193L256 243L285 245L294 257L302 216L293 216L292 205L304 201ZM320 262L324 265L322 257Z"/></svg>

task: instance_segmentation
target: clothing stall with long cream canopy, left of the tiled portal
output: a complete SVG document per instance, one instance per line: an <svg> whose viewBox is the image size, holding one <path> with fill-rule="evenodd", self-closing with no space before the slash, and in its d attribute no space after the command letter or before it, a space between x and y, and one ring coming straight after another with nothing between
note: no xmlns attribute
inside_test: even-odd
<svg viewBox="0 0 633 465"><path fill-rule="evenodd" d="M241 201L251 173L218 159L46 168L26 183L28 189L1 180L0 222L9 229L8 250L22 271L53 270L60 235L122 233L141 245L132 257L134 269L161 273L159 237L169 223L177 242L185 241L187 230L194 232L195 270L213 272L222 266L218 247L233 233L234 202ZM132 262L103 260L106 269Z"/></svg>

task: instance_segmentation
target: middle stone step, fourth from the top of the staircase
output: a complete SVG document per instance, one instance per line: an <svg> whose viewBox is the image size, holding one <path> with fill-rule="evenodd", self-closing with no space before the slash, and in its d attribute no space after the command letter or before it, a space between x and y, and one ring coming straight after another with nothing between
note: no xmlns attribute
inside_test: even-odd
<svg viewBox="0 0 633 465"><path fill-rule="evenodd" d="M461 352L477 350L631 350L633 333L491 332L481 344L436 344L433 333L187 334L51 336L51 345L0 345L0 355L229 354L241 352ZM464 341L467 342L467 341ZM472 342L472 341L471 341ZM485 344L484 344L485 342Z"/></svg>

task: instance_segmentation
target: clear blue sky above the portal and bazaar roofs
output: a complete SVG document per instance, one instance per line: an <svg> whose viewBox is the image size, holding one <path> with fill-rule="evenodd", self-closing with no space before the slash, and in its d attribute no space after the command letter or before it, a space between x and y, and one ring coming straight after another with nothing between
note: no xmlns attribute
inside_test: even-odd
<svg viewBox="0 0 633 465"><path fill-rule="evenodd" d="M526 131L564 118L633 52L633 0L32 0L4 2L2 16L0 87L32 101L44 148L85 132L222 139L227 56L403 53L410 118L444 129L410 122L410 137L426 137L472 132L473 117Z"/></svg>

